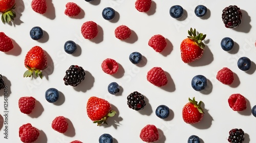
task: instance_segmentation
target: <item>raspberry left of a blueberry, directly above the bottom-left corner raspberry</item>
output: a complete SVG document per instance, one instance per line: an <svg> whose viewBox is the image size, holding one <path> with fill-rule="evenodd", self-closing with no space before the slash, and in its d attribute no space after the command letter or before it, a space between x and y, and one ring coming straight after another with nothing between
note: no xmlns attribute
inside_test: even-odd
<svg viewBox="0 0 256 143"><path fill-rule="evenodd" d="M18 107L20 112L30 114L35 108L36 100L33 97L21 97L18 100Z"/></svg>

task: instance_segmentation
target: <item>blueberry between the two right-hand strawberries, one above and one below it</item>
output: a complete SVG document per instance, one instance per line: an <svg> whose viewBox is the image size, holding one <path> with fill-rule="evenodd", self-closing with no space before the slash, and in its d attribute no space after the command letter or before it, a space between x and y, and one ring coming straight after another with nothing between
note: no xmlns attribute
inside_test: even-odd
<svg viewBox="0 0 256 143"><path fill-rule="evenodd" d="M196 91L202 91L206 88L207 86L207 79L203 75L197 75L193 77L191 80L191 86L196 90Z"/></svg>

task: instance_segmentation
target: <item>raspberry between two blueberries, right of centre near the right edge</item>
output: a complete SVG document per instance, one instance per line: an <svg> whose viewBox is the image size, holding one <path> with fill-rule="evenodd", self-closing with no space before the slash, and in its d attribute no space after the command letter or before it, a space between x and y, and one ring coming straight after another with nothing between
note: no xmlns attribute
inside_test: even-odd
<svg viewBox="0 0 256 143"><path fill-rule="evenodd" d="M218 71L216 78L223 84L231 84L233 83L234 75L229 68L223 67Z"/></svg>

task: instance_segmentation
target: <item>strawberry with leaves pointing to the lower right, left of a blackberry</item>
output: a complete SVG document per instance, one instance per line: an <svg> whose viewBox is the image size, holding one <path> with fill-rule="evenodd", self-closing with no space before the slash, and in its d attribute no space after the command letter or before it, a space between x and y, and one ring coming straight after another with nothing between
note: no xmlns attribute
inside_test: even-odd
<svg viewBox="0 0 256 143"><path fill-rule="evenodd" d="M116 114L116 111L111 110L111 104L108 101L97 97L89 98L86 110L88 117L93 123L97 123L97 126L107 124L108 117Z"/></svg>

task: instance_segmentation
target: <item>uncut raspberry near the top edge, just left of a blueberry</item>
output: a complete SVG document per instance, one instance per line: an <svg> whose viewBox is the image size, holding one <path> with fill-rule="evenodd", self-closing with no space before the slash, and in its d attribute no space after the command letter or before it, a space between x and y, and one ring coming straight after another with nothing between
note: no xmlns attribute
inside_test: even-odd
<svg viewBox="0 0 256 143"><path fill-rule="evenodd" d="M66 4L66 9L64 11L66 15L72 17L72 16L78 15L80 12L81 12L81 9L76 3L68 2Z"/></svg>

